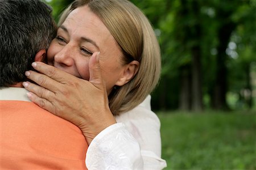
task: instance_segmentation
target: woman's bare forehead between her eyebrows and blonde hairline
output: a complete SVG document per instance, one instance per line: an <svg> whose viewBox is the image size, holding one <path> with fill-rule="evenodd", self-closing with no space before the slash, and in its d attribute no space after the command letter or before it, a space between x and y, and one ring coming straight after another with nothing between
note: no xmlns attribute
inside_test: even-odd
<svg viewBox="0 0 256 170"><path fill-rule="evenodd" d="M73 10L64 20L60 28L67 29L71 39L87 39L95 42L101 53L109 54L111 51L121 52L117 41L109 29L88 6L82 6Z"/></svg>

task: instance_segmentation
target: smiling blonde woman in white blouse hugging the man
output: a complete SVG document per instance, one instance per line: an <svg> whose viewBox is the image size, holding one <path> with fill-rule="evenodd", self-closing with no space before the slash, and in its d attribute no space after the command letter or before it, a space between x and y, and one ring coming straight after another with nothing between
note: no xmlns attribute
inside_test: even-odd
<svg viewBox="0 0 256 170"><path fill-rule="evenodd" d="M139 105L158 83L160 50L136 6L126 0L73 2L47 57L58 69L33 63L43 74L26 75L42 87L23 85L40 107L79 126L89 144L88 169L166 167L159 119Z"/></svg>

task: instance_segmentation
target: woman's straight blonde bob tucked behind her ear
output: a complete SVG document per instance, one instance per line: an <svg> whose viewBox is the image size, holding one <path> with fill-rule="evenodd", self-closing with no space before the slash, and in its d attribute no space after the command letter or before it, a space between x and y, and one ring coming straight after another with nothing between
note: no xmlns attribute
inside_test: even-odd
<svg viewBox="0 0 256 170"><path fill-rule="evenodd" d="M160 77L160 49L154 30L146 16L126 0L76 0L61 15L59 25L75 8L88 5L112 33L123 52L123 60L140 63L130 82L114 87L109 95L113 115L137 107L154 90Z"/></svg>

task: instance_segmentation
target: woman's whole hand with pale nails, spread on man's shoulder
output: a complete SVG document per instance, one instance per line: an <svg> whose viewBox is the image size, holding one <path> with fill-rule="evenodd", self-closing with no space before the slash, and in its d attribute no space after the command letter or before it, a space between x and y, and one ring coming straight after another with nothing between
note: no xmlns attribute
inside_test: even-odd
<svg viewBox="0 0 256 170"><path fill-rule="evenodd" d="M39 71L26 71L31 82L23 82L28 97L47 111L77 125L88 144L108 126L115 124L109 109L108 95L101 76L100 53L90 58L90 80L77 78L53 66L34 62Z"/></svg>

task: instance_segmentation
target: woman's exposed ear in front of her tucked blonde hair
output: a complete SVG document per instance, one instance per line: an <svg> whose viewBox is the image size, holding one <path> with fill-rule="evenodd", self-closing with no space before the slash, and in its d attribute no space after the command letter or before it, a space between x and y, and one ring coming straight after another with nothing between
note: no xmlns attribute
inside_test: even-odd
<svg viewBox="0 0 256 170"><path fill-rule="evenodd" d="M139 62L138 61L132 61L125 65L123 69L123 73L121 77L118 79L117 83L115 83L116 86L123 86L124 84L130 82L131 79L137 74L139 70Z"/></svg>

